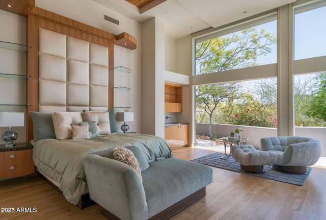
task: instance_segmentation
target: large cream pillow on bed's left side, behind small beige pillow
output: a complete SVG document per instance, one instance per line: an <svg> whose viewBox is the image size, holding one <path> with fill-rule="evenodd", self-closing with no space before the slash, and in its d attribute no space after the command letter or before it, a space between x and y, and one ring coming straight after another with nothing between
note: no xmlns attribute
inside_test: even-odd
<svg viewBox="0 0 326 220"><path fill-rule="evenodd" d="M55 112L52 114L53 127L58 140L72 138L71 125L83 122L82 112Z"/></svg>

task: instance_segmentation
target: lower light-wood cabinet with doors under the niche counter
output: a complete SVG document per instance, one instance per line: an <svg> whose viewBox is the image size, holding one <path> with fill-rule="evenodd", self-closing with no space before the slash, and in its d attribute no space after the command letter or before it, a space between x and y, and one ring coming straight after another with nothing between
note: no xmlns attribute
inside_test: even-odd
<svg viewBox="0 0 326 220"><path fill-rule="evenodd" d="M165 139L171 148L188 145L188 124L168 124L164 128Z"/></svg>

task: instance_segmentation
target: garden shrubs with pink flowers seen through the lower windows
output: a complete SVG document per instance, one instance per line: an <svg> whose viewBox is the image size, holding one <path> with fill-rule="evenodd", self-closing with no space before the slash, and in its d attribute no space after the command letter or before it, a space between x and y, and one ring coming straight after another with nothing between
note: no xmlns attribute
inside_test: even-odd
<svg viewBox="0 0 326 220"><path fill-rule="evenodd" d="M270 86L271 84L274 86ZM326 96L323 96L325 85L326 74L309 75L304 77L303 81L296 80L294 84L295 126L326 126L326 120L322 118L322 114L326 112L323 110L326 106ZM212 123L277 128L277 103L273 101L277 97L276 80L258 81L253 87L250 92L240 92L238 89L237 99L230 99L216 105L211 116ZM313 111L314 108L316 112ZM201 114L198 114L199 112ZM197 121L199 117L200 123L209 123L208 113L197 106Z"/></svg>

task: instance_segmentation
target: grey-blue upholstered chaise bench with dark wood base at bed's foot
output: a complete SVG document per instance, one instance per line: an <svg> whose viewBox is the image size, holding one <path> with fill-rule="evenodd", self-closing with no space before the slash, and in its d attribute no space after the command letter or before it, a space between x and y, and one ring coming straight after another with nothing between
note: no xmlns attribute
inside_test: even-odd
<svg viewBox="0 0 326 220"><path fill-rule="evenodd" d="M149 163L141 182L131 166L99 155L84 159L90 197L110 219L169 219L205 197L212 169L176 158ZM182 201L182 202L180 202Z"/></svg>

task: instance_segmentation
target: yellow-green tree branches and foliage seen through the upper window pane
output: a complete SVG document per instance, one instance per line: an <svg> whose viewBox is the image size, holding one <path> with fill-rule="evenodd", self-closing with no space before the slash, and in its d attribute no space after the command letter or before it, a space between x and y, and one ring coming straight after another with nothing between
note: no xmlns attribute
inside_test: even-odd
<svg viewBox="0 0 326 220"><path fill-rule="evenodd" d="M245 29L196 44L196 74L208 74L257 65L257 57L271 52L275 35L264 29Z"/></svg>

